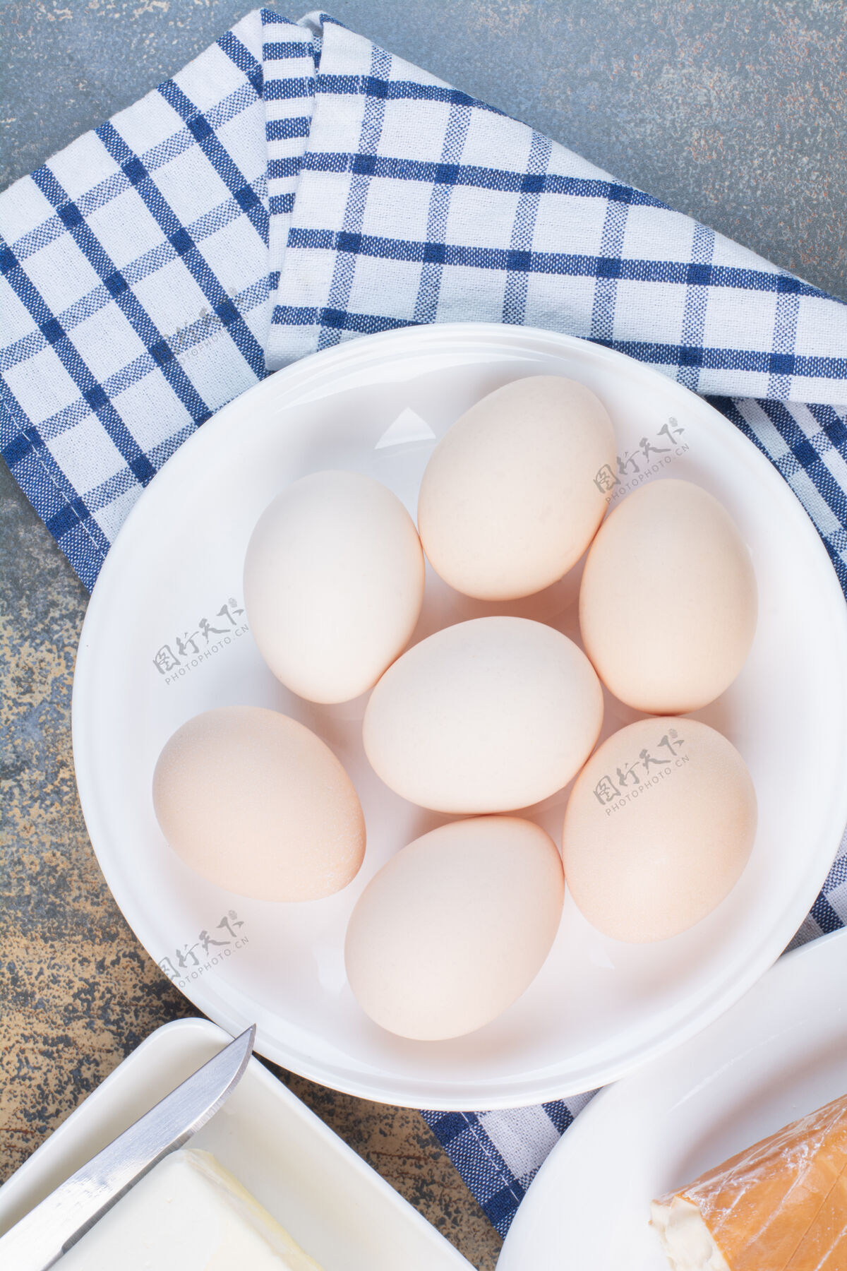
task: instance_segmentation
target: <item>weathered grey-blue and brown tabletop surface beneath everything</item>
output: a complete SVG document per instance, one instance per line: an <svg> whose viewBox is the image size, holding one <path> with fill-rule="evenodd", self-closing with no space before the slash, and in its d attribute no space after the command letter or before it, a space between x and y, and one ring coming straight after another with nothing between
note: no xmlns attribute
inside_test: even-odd
<svg viewBox="0 0 847 1271"><path fill-rule="evenodd" d="M296 18L300 9L273 5ZM339 20L847 299L844 0L335 0ZM0 187L244 0L0 0ZM86 596L0 465L0 1181L190 1004L123 921L70 751ZM480 1268L499 1240L417 1113L281 1074Z"/></svg>

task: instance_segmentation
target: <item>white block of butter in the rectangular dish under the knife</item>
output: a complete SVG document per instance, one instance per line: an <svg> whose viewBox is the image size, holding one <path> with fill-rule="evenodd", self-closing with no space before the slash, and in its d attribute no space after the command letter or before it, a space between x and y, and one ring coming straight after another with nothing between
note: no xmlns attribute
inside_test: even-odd
<svg viewBox="0 0 847 1271"><path fill-rule="evenodd" d="M215 1157L160 1160L60 1260L61 1271L320 1271Z"/></svg>

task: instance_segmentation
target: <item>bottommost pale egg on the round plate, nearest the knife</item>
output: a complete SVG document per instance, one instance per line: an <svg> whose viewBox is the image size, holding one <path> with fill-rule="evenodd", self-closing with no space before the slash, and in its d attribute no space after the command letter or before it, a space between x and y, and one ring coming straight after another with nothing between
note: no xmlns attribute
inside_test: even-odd
<svg viewBox="0 0 847 1271"><path fill-rule="evenodd" d="M563 899L561 860L540 826L510 816L443 825L392 857L357 901L350 988L401 1037L472 1032L532 982Z"/></svg>

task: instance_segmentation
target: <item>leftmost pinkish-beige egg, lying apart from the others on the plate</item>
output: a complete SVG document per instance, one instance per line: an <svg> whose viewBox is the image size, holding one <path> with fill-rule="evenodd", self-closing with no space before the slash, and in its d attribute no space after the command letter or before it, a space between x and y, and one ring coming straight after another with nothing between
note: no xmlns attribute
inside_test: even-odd
<svg viewBox="0 0 847 1271"><path fill-rule="evenodd" d="M152 799L174 852L241 896L319 900L362 864L353 783L320 737L276 710L194 716L165 744Z"/></svg>

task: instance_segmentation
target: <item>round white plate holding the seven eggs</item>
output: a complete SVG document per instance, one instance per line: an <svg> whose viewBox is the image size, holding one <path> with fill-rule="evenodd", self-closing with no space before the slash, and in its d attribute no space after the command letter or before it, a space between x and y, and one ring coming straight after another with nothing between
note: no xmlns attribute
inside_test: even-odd
<svg viewBox="0 0 847 1271"><path fill-rule="evenodd" d="M404 1041L354 1002L344 928L375 871L444 819L376 779L362 752L362 700L312 707L274 680L236 613L244 552L268 501L320 468L370 473L414 512L434 438L483 394L540 372L589 384L615 419L622 456L643 455L644 438L649 478L684 477L712 491L749 543L758 633L739 679L700 717L747 759L759 833L731 896L693 930L662 944L617 944L568 901L547 963L505 1014L461 1040ZM616 497L645 475L626 466ZM415 638L507 610L575 637L578 580L577 569L537 597L495 606L430 574ZM199 655L187 639L196 632ZM178 637L188 657L160 674L154 658L165 646L180 656ZM150 794L159 751L183 721L227 703L295 714L348 768L368 850L338 896L307 905L244 900L203 882L164 841ZM608 699L604 733L632 718ZM86 615L74 691L74 756L91 843L152 957L227 1031L255 1019L258 1050L286 1068L366 1098L430 1108L521 1106L590 1089L731 1005L782 952L827 874L847 819L846 727L843 597L810 521L767 459L706 402L639 362L497 325L353 341L222 409L168 461L118 535ZM564 802L563 792L531 813L556 839Z"/></svg>

